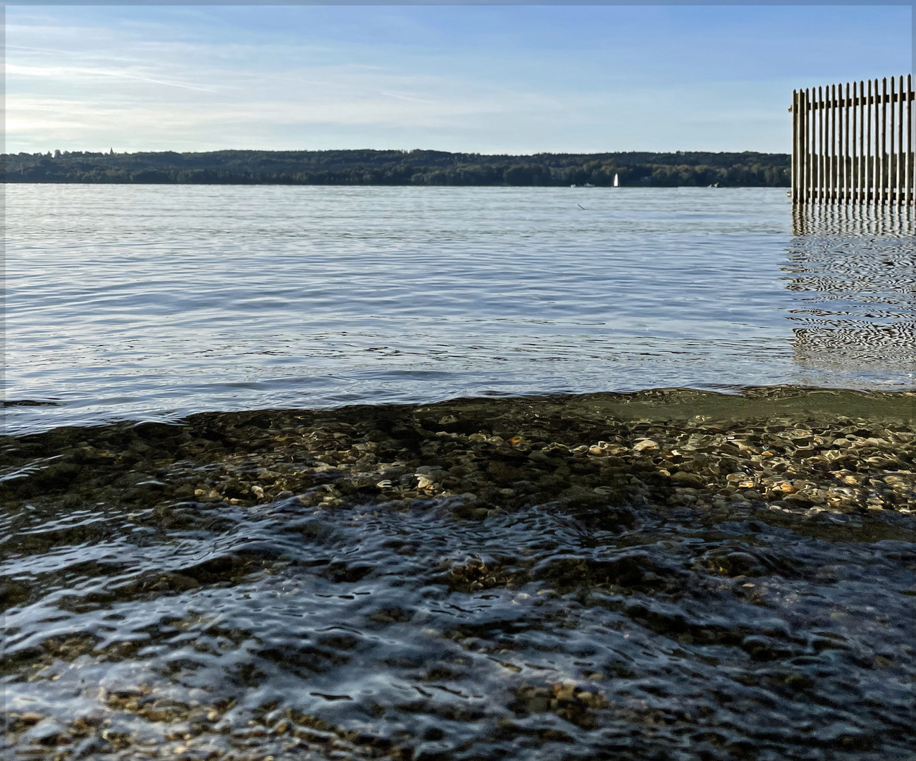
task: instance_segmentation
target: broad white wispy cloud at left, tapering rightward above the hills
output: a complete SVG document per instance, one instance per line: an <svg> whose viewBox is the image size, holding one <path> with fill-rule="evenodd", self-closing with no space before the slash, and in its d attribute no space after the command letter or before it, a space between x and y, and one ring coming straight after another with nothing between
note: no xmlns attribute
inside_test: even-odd
<svg viewBox="0 0 916 761"><path fill-rule="evenodd" d="M60 28L48 27L11 27L8 34L66 37ZM104 54L98 38L108 45ZM125 44L93 28L72 29L71 42L69 50L11 46L6 68L11 146L26 137L54 136L55 147L71 149L86 140L116 140L121 149L162 147L168 130L185 146L197 135L200 147L226 147L265 125L268 134L297 125L436 128L455 119L512 118L562 105L538 92L385 65L293 66L297 59L321 56L303 56L289 46ZM267 56L270 65L253 65ZM189 69L192 80L177 76Z"/></svg>

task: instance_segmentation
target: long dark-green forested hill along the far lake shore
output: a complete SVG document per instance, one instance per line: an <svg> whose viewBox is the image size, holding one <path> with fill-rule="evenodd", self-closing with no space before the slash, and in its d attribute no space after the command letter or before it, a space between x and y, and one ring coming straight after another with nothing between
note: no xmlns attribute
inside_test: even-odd
<svg viewBox="0 0 916 761"><path fill-rule="evenodd" d="M540 153L434 150L224 150L3 155L7 182L289 185L712 185L787 187L781 153Z"/></svg>

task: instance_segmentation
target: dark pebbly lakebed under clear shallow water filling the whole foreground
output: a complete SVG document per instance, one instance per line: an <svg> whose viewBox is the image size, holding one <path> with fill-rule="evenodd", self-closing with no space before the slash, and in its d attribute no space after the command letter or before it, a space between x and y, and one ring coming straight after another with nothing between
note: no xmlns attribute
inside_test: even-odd
<svg viewBox="0 0 916 761"><path fill-rule="evenodd" d="M916 758L916 394L5 437L8 757Z"/></svg>

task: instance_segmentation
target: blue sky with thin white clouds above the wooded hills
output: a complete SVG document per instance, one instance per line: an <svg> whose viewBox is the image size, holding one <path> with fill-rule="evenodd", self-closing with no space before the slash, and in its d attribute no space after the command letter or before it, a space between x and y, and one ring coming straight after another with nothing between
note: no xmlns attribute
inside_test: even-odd
<svg viewBox="0 0 916 761"><path fill-rule="evenodd" d="M788 152L911 5L7 5L5 150Z"/></svg>

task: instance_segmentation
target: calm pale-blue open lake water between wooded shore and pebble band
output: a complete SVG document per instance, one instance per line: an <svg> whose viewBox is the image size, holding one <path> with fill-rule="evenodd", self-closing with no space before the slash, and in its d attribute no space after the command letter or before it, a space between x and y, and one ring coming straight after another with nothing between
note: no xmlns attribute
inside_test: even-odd
<svg viewBox="0 0 916 761"><path fill-rule="evenodd" d="M7 185L11 431L211 409L909 388L913 221L782 189Z"/></svg>

